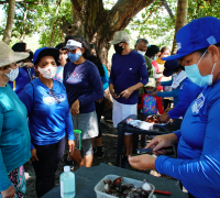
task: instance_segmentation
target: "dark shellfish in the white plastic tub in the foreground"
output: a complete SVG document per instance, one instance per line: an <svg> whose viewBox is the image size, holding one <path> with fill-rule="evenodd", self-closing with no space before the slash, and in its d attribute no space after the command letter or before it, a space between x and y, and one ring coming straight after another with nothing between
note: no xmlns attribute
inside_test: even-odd
<svg viewBox="0 0 220 198"><path fill-rule="evenodd" d="M118 177L113 182L103 180L105 188L102 193L120 198L147 198L152 191L151 185L144 179L141 187L133 184L124 184L123 177Z"/></svg>

